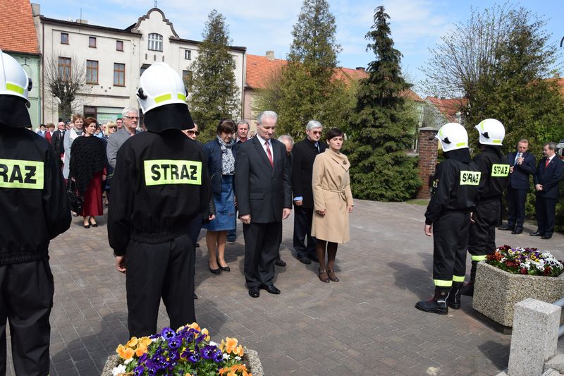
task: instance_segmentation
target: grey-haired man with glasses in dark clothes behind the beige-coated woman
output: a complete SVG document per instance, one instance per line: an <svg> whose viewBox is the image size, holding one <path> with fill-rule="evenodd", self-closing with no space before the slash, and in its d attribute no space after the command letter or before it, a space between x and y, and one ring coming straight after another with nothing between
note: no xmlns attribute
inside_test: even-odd
<svg viewBox="0 0 564 376"><path fill-rule="evenodd" d="M313 162L317 154L325 151L327 145L322 142L323 126L319 121L311 120L305 126L307 137L295 144L292 165L292 190L294 194L294 249L297 258L303 264L317 260L315 238L312 236ZM305 243L307 238L307 245Z"/></svg>

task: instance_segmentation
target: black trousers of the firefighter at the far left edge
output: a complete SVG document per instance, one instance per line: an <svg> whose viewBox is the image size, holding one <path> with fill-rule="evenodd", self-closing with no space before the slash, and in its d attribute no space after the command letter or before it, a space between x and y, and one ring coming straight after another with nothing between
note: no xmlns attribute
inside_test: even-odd
<svg viewBox="0 0 564 376"><path fill-rule="evenodd" d="M0 375L6 375L6 319L16 375L49 374L54 291L47 259L0 266Z"/></svg>

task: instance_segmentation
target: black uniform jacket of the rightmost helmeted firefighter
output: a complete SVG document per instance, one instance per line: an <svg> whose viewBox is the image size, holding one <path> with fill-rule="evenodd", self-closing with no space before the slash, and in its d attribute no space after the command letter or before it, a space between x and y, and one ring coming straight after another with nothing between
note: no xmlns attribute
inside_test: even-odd
<svg viewBox="0 0 564 376"><path fill-rule="evenodd" d="M482 172L482 180L478 188L477 201L487 201L501 198L503 190L509 184L509 164L507 158L488 147L474 157L474 162Z"/></svg>

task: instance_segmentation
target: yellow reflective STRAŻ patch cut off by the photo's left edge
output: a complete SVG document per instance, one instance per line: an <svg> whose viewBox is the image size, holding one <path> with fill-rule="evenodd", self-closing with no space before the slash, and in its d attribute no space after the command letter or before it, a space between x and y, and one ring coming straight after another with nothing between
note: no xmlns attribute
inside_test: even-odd
<svg viewBox="0 0 564 376"><path fill-rule="evenodd" d="M43 189L44 164L21 159L0 159L0 188Z"/></svg>

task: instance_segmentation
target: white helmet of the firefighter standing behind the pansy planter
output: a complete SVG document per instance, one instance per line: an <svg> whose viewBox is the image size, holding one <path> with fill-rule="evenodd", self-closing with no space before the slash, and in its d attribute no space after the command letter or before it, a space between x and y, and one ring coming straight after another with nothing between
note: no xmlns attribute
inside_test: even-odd
<svg viewBox="0 0 564 376"><path fill-rule="evenodd" d="M166 104L186 104L188 107L183 80L167 63L154 63L143 72L137 101L144 114Z"/></svg>

